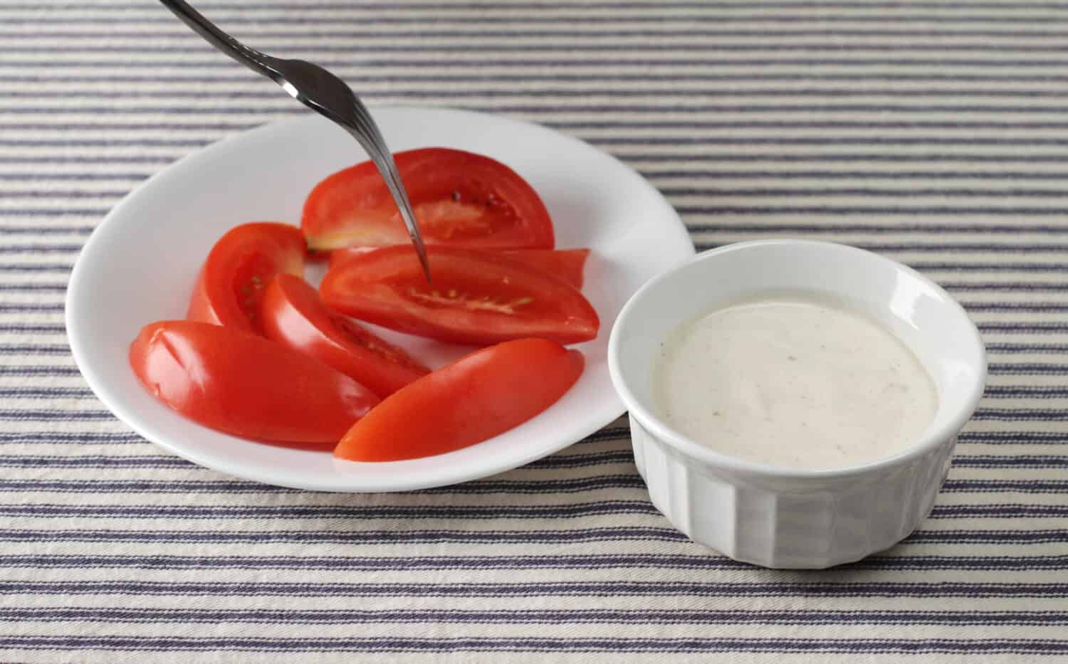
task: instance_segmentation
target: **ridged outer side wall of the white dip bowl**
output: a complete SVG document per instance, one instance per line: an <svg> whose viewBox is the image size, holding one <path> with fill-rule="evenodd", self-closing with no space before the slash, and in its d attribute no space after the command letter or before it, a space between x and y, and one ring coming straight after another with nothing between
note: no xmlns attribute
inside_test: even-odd
<svg viewBox="0 0 1068 664"><path fill-rule="evenodd" d="M956 443L787 489L687 457L633 416L630 434L649 497L675 527L736 560L783 569L859 560L908 537L930 512Z"/></svg>

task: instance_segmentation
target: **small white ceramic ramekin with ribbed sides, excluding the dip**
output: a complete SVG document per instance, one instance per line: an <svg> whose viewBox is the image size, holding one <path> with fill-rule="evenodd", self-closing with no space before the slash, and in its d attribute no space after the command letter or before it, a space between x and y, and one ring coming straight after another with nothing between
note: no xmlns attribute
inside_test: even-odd
<svg viewBox="0 0 1068 664"><path fill-rule="evenodd" d="M717 453L656 414L651 369L672 330L784 288L844 298L913 350L939 395L920 440L863 465L788 469ZM675 527L737 560L824 568L892 547L927 516L983 395L987 361L964 310L914 270L842 244L767 240L702 253L643 286L612 329L609 369L630 411L638 470Z"/></svg>

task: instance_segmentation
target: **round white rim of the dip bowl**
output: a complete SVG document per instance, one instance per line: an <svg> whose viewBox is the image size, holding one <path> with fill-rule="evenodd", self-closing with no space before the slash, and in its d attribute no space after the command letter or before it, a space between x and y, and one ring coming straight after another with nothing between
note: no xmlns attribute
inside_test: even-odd
<svg viewBox="0 0 1068 664"><path fill-rule="evenodd" d="M723 454L710 447L706 447L705 445L691 440L689 437L679 433L675 429L668 426L658 415L646 409L638 400L633 392L631 392L630 386L627 383L625 373L621 366L619 359L619 347L622 344L621 330L627 327L628 321L633 316L634 310L640 306L641 301L647 297L647 294L658 284L673 278L679 270L686 269L695 263L714 260L718 256L741 250L783 246L795 247L800 251L822 248L830 249L832 251L863 254L865 259L890 264L895 269L905 271L942 296L944 302L949 306L954 315L959 316L967 323L965 329L971 333L969 343L978 353L978 373L974 383L970 388L970 393L962 401L962 406L956 412L952 413L941 426L926 431L925 434L921 437L918 442L909 445L896 454L881 457L858 465L829 469L780 467ZM630 415L656 438L668 443L671 447L682 455L689 458L694 458L713 469L725 470L751 477L769 479L850 479L868 475L870 473L882 473L888 470L901 467L917 457L927 455L943 445L947 440L953 439L972 417L979 400L983 398L987 379L987 351L986 346L983 344L983 338L979 334L978 328L976 328L975 322L971 319L971 317L969 317L964 307L961 306L961 304L944 288L909 266L875 252L839 242L803 239L748 240L724 244L722 247L703 251L687 263L649 280L643 284L642 287L630 297L627 303L624 304L623 309L619 310L619 315L616 317L615 322L612 326L612 332L609 337L608 364L609 373L612 377L612 384L615 386L619 398L627 406L627 410Z"/></svg>

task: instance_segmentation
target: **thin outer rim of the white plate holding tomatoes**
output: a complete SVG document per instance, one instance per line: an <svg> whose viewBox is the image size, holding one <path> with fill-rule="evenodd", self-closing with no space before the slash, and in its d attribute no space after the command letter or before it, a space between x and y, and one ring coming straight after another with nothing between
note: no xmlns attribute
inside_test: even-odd
<svg viewBox="0 0 1068 664"><path fill-rule="evenodd" d="M663 208L666 216L669 216L674 223L664 224L665 242L675 242L676 240L682 240L682 243L688 247L689 254L681 256L679 260L689 259L695 251L693 243L689 237L689 233L686 228L685 223L678 215L678 211L668 202L663 194L653 186L641 173L631 167L627 165L621 161L615 156L600 149L599 147L583 141L577 137L563 133L547 127L545 125L529 122L525 120L519 120L512 117L509 115L497 114L497 113L486 113L481 111L469 111L466 109L457 109L451 107L434 107L434 106L409 106L409 105L383 105L383 106L372 106L370 110L373 114L388 114L390 112L415 112L415 113L430 113L430 114L446 114L446 115L458 115L468 120L477 120L478 117L493 118L494 121L506 121L508 123L514 123L518 125L525 125L528 127L537 128L544 131L550 131L557 137L565 139L566 141L577 144L583 149L593 149L606 157L612 159L618 163L622 168L632 172L638 176L639 180L643 184L646 189L646 194L651 195L651 197L658 203L658 205ZM218 141L214 141L206 145L203 145L195 151L182 156L180 158L172 161L171 163L162 167L150 177L145 178L139 183L136 187L130 189L121 201L119 201L98 224L93 228L89 238L82 244L81 250L78 253L78 257L75 260L74 267L70 271L70 276L67 282L67 289L64 297L64 325L67 333L67 343L70 347L72 357L75 361L75 365L78 367L82 379L85 380L89 388L93 391L93 394L97 399L111 412L115 418L122 422L125 426L130 427L136 433L144 438L145 440L152 442L171 454L174 454L187 461L190 461L202 468L209 469L214 472L218 472L232 477L256 481L270 486L285 487L292 489L303 489L311 491L328 491L328 492L347 492L347 493L372 493L372 492L396 492L396 491L410 491L419 489L428 489L435 487L450 486L454 484L460 484L464 481L469 481L472 479L478 479L482 477L487 477L496 475L508 470L525 465L537 459L550 456L569 447L570 445L587 438L592 433L602 429L608 424L611 424L617 420L621 415L626 412L626 407L624 406L618 394L614 391L611 392L610 398L614 400L615 408L612 409L614 413L612 417L601 422L601 418L596 421L590 421L584 426L575 427L574 433L570 436L563 436L560 441L554 442L551 445L540 445L535 449L532 449L525 454L516 454L512 456L504 456L498 459L494 463L484 464L478 467L470 465L459 465L459 464L443 464L440 468L440 472L435 473L431 477L420 477L415 480L405 480L404 476L396 474L383 474L381 476L367 477L361 476L358 481L352 481L351 477L346 477L344 475L337 475L336 478L324 477L320 481L310 484L302 480L286 480L284 477L279 476L267 476L267 473L260 472L260 469L253 468L250 472L235 472L231 468L221 468L220 464L215 462L209 453L204 453L203 455L199 453L198 447L187 446L187 445L174 445L166 437L157 436L156 432L146 430L141 426L141 418L137 413L132 412L131 409L127 409L122 399L117 398L117 395L112 394L112 392L107 386L107 381L104 374L97 374L95 369L87 367L92 367L92 363L89 361L88 349L85 348L85 339L83 334L77 333L78 331L78 320L82 317L81 304L76 295L80 290L79 285L84 282L83 274L85 272L85 260L83 257L97 253L99 250L96 249L96 244L104 241L101 238L104 234L100 233L101 228L108 226L109 223L114 218L121 217L124 214L125 208L130 204L130 201L137 196L142 189L151 187L158 179L164 177L168 173L171 173L173 169L179 167L179 164L185 164L189 161L197 160L198 158L203 158L203 153L211 148L218 148L220 145L224 145L232 142L240 142L244 140L249 140L250 136L255 136L260 133L272 133L278 131L284 131L287 128L293 128L294 126L300 124L312 125L318 122L323 122L320 117L314 114L300 114L293 117L285 117L282 120L277 120L272 122L267 122L262 125L251 127L235 133L231 133ZM677 237L668 237L677 236ZM655 276L655 275L653 275ZM653 278L650 276L650 279ZM647 281L647 280L646 280ZM631 294L633 295L633 294ZM629 300L630 296L627 296ZM619 307L622 309L625 304L622 303ZM610 330L604 330L602 333L609 334ZM492 440L492 439L490 439ZM488 441L487 441L488 442ZM408 463L408 461L390 461L382 464L376 464L379 468L383 465L399 464L403 465ZM348 481L346 481L348 480Z"/></svg>

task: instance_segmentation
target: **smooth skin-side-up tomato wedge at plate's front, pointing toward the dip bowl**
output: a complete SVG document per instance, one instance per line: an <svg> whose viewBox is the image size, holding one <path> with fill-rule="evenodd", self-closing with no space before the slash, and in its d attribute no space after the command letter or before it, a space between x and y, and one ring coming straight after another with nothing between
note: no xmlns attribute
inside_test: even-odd
<svg viewBox="0 0 1068 664"><path fill-rule="evenodd" d="M398 461L481 443L555 404L584 363L579 351L538 338L483 348L384 399L352 425L334 456Z"/></svg>

